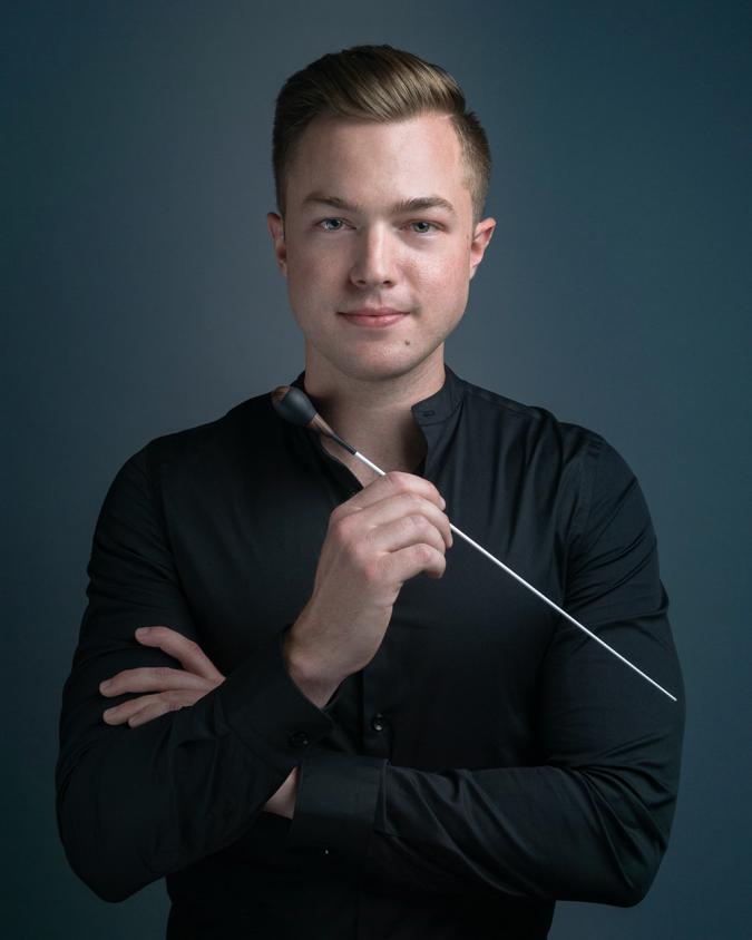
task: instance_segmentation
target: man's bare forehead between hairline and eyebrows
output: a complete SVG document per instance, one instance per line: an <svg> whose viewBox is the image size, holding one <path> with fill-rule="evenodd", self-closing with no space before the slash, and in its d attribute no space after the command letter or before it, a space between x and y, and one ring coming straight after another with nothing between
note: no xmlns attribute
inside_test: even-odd
<svg viewBox="0 0 752 940"><path fill-rule="evenodd" d="M297 141L289 167L287 207L322 192L374 208L430 193L460 212L471 210L459 138L445 115L388 124L316 118Z"/></svg>

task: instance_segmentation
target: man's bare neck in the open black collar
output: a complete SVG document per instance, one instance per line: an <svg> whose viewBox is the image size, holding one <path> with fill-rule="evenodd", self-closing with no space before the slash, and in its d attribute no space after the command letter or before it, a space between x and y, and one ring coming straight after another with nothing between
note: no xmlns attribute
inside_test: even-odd
<svg viewBox="0 0 752 940"><path fill-rule="evenodd" d="M426 439L411 408L445 382L442 358L404 375L377 381L343 375L306 356L305 391L330 427L382 470L413 472L426 454ZM367 484L375 473L333 441L323 447Z"/></svg>

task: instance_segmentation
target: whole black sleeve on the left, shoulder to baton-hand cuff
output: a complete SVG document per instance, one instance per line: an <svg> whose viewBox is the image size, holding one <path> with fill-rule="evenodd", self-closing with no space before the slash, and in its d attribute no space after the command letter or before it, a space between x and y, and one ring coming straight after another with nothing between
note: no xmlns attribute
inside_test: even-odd
<svg viewBox="0 0 752 940"><path fill-rule="evenodd" d="M118 901L232 843L332 721L290 678L283 628L192 707L140 727L101 714L99 683L178 667L134 637L166 625L199 642L149 480L148 448L116 476L97 521L88 605L62 695L56 772L60 836L76 873Z"/></svg>

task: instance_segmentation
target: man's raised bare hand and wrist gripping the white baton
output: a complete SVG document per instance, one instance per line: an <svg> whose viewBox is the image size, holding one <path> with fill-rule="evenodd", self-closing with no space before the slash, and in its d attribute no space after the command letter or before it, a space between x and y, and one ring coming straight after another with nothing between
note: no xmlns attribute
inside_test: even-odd
<svg viewBox="0 0 752 940"><path fill-rule="evenodd" d="M393 471L332 512L313 594L284 644L290 674L319 705L367 666L383 639L402 585L440 578L452 545L433 483Z"/></svg>

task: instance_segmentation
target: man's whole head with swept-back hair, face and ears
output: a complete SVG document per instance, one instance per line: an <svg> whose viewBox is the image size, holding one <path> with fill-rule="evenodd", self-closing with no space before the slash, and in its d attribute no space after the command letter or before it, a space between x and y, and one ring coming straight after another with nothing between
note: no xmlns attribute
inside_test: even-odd
<svg viewBox="0 0 752 940"><path fill-rule="evenodd" d="M306 385L443 374L495 226L480 218L489 163L455 80L416 56L358 47L289 79L267 221Z"/></svg>

